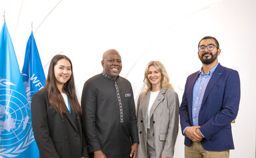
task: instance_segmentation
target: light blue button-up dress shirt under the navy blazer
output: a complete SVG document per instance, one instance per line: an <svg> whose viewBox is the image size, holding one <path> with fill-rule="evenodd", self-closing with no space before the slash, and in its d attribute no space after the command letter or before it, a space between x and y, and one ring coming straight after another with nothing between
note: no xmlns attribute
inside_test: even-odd
<svg viewBox="0 0 256 158"><path fill-rule="evenodd" d="M209 71L208 74L203 74L203 68L201 68L201 70L199 71L198 78L195 81L195 84L193 87L193 104L192 104L193 126L198 125L198 116L199 116L199 111L200 111L201 104L203 101L203 96L205 94L205 89L207 87L209 80L211 79L211 76L213 76L213 72L217 68L218 64L219 64L219 62L213 68L211 68L211 70ZM186 129L187 129L187 127L185 127L185 129L183 130L184 135L185 135Z"/></svg>

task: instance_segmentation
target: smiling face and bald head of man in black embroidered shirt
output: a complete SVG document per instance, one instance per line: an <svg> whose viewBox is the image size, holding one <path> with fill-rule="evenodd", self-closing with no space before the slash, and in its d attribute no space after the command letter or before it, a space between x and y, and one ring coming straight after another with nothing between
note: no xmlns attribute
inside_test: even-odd
<svg viewBox="0 0 256 158"><path fill-rule="evenodd" d="M121 56L119 55L117 50L107 50L103 54L103 60L101 61L101 65L103 66L103 72L116 80L117 76L122 70Z"/></svg>

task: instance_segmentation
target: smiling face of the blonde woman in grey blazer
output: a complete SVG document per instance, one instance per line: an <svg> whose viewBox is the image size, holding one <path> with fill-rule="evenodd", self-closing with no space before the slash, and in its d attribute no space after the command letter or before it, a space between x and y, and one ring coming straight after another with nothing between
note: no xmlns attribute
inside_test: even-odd
<svg viewBox="0 0 256 158"><path fill-rule="evenodd" d="M161 79L162 74L155 68L155 66L149 66L149 70L147 71L147 79L151 83L152 87L157 88L157 90L161 89Z"/></svg>

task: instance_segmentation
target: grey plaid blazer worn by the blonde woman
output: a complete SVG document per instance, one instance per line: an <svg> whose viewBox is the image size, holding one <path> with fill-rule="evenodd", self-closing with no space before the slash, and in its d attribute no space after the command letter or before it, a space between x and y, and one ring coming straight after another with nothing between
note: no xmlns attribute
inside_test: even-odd
<svg viewBox="0 0 256 158"><path fill-rule="evenodd" d="M147 157L147 108L150 92L142 92L137 102L137 118L139 129L138 158ZM151 136L155 138L155 152L173 157L175 141L179 130L179 98L170 88L161 89L150 110Z"/></svg>

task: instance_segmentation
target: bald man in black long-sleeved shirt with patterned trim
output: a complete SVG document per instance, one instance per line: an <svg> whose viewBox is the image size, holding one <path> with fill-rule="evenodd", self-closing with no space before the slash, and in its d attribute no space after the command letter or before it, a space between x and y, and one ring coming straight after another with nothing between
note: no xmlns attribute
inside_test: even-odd
<svg viewBox="0 0 256 158"><path fill-rule="evenodd" d="M131 83L119 76L117 50L107 50L101 64L103 72L85 82L81 97L89 153L95 158L135 158L139 137Z"/></svg>

